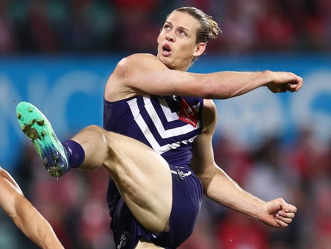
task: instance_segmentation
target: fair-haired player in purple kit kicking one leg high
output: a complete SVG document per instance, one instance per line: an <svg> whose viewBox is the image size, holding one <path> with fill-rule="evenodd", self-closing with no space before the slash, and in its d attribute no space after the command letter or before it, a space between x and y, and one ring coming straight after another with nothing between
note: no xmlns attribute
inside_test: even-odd
<svg viewBox="0 0 331 249"><path fill-rule="evenodd" d="M202 192L269 226L287 227L294 217L294 206L282 198L259 200L215 164L216 108L210 99L262 86L298 91L302 79L288 72L186 72L218 32L217 23L196 8L168 15L157 56L124 58L109 77L105 130L90 126L61 143L36 107L17 106L19 124L50 175L101 165L109 172L107 202L117 248L178 247L194 229Z"/></svg>

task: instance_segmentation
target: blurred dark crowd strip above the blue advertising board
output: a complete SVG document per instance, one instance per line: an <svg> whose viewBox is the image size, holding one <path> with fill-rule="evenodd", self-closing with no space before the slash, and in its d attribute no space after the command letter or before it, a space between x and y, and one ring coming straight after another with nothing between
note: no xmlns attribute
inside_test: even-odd
<svg viewBox="0 0 331 249"><path fill-rule="evenodd" d="M331 51L329 0L0 0L0 55L156 51L173 9L195 6L223 35L208 51Z"/></svg>

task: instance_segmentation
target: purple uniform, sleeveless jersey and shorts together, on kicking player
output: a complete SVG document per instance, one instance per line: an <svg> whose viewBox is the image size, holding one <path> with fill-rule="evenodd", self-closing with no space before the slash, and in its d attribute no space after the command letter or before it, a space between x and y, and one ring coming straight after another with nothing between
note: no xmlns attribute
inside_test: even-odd
<svg viewBox="0 0 331 249"><path fill-rule="evenodd" d="M131 249L141 237L164 248L176 248L194 229L202 186L190 169L192 142L202 132L203 99L187 96L139 95L116 102L104 99L103 127L139 140L161 155L173 178L170 231L155 235L135 220L114 181L107 203L117 249Z"/></svg>

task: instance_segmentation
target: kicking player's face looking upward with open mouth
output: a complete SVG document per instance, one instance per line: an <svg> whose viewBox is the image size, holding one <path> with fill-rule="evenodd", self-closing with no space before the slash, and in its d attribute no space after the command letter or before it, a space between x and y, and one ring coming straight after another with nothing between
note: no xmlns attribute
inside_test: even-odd
<svg viewBox="0 0 331 249"><path fill-rule="evenodd" d="M174 11L157 38L157 57L170 69L186 71L194 56L200 56L205 43L197 43L200 22L193 16Z"/></svg>

